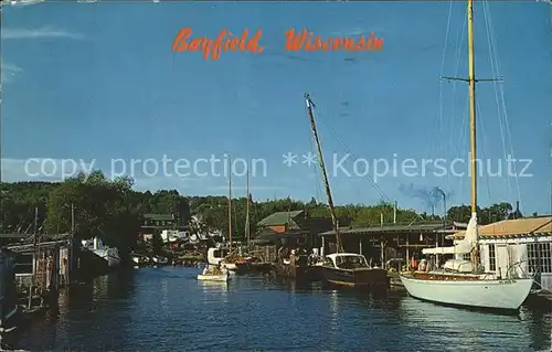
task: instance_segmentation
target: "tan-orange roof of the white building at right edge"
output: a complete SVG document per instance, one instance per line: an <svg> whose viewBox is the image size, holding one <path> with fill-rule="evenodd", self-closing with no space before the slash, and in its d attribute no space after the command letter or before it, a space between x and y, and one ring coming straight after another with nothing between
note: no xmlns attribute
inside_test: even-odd
<svg viewBox="0 0 552 352"><path fill-rule="evenodd" d="M503 220L478 227L479 236L537 235L552 233L552 216ZM465 231L455 236L464 237Z"/></svg>

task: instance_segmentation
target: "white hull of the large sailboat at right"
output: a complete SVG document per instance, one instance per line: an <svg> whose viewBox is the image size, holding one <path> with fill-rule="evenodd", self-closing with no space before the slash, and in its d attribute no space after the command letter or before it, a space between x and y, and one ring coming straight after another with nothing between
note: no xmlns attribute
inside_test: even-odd
<svg viewBox="0 0 552 352"><path fill-rule="evenodd" d="M408 295L435 303L517 310L529 296L527 279L424 279L401 275Z"/></svg>

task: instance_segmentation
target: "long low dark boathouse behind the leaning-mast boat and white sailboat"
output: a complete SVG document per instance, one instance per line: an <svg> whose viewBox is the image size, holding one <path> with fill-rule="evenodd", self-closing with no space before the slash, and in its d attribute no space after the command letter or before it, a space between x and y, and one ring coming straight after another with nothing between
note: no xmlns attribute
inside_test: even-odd
<svg viewBox="0 0 552 352"><path fill-rule="evenodd" d="M371 227L340 227L339 234L343 249L359 253L372 263L385 264L390 259L403 262L413 255L421 255L422 248L453 244L446 234L454 234L466 228L457 222L418 222L411 224L390 224ZM336 232L319 234L322 238L321 253L336 252Z"/></svg>

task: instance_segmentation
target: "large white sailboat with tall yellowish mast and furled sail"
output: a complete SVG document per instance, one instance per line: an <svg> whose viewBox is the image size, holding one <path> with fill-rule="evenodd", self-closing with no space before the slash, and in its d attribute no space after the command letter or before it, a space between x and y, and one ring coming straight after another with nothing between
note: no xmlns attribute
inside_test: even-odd
<svg viewBox="0 0 552 352"><path fill-rule="evenodd" d="M532 278L511 266L505 277L485 273L479 262L477 226L477 157L474 58L474 0L468 0L469 113L471 139L471 218L463 241L453 247L426 248L424 254L470 254L471 260L450 259L440 270L402 273L401 281L412 297L436 303L517 310L529 296Z"/></svg>

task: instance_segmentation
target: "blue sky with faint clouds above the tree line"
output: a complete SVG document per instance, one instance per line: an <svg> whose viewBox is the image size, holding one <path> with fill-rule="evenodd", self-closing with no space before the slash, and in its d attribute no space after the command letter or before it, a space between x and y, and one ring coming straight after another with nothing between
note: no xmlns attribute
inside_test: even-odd
<svg viewBox="0 0 552 352"><path fill-rule="evenodd" d="M551 212L551 11L531 1L476 7L477 75L505 79L478 86L478 153L491 160L492 172L499 162L503 168L502 177L479 179L481 205L520 199L526 213ZM380 158L390 167L393 159L399 168L408 158L417 164L417 171L408 169L415 177L399 169L378 178L386 200L431 211L427 190L439 186L449 204L469 202L467 177L437 177L432 168L422 175L420 169L423 159L443 158L448 166L468 158L467 86L439 79L467 74L461 1L45 2L3 12L4 181L60 178L31 177L24 169L29 158L55 159L57 166L73 159L109 175L121 171L120 162L112 169L113 159L126 160L129 170L131 159L193 162L229 153L266 161L266 175L257 171L251 179L254 198L323 201L320 172L300 158L316 151L302 98L309 92L336 203L382 199L367 177L353 173L352 163L365 159L372 167ZM213 39L222 29L262 29L264 52L226 52L219 61L173 52L182 28ZM384 44L381 52L291 53L284 50L290 28L325 38L373 32ZM489 43L498 55L490 54ZM532 177L506 174L512 151L532 160L524 170ZM287 152L299 162L283 164ZM353 156L343 167L352 175L332 174L333 153L339 160L347 152ZM518 173L526 164L516 164ZM171 174L147 177L137 163L131 175L140 190L227 192L224 177ZM234 184L236 195L245 192L245 177L234 177Z"/></svg>

